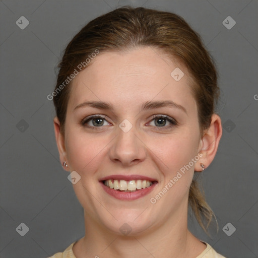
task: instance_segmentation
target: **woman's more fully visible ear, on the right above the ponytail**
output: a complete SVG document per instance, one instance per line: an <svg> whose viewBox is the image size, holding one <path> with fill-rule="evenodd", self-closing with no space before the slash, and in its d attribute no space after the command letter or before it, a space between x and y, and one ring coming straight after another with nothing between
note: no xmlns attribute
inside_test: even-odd
<svg viewBox="0 0 258 258"><path fill-rule="evenodd" d="M205 130L200 142L199 152L201 152L203 156L200 158L200 162L196 163L196 171L203 171L201 163L204 164L204 168L207 168L212 163L217 153L221 136L221 119L217 114L213 114L211 117L211 124L209 128Z"/></svg>

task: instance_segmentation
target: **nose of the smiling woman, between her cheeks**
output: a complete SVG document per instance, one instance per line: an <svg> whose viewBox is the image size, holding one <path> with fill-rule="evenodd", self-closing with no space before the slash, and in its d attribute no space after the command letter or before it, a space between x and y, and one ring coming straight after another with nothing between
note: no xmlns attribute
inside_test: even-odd
<svg viewBox="0 0 258 258"><path fill-rule="evenodd" d="M133 127L124 132L120 127L117 128L117 136L110 147L110 159L113 162L124 166L132 166L142 162L146 158L146 147L141 141L141 137Z"/></svg>

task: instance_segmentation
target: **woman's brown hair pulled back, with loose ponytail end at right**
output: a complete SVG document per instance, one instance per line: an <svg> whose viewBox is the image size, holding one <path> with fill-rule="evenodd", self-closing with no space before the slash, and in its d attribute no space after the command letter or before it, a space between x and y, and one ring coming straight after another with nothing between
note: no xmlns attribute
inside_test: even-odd
<svg viewBox="0 0 258 258"><path fill-rule="evenodd" d="M71 83L61 87L62 90L60 85L78 69L78 64L85 63L96 49L100 52L130 51L141 46L155 47L184 64L192 79L191 89L197 101L201 133L209 127L219 88L214 61L201 37L176 14L126 6L89 22L66 47L58 65L56 94L53 95L63 134ZM207 233L214 214L195 177L190 185L188 203Z"/></svg>

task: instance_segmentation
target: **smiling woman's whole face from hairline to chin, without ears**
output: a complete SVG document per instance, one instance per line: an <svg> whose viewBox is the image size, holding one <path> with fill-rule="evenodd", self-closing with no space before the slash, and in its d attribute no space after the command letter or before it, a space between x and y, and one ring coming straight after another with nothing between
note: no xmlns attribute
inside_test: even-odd
<svg viewBox="0 0 258 258"><path fill-rule="evenodd" d="M89 223L138 234L187 216L202 139L178 62L150 47L98 54L73 80L65 132L62 157L81 176L73 187Z"/></svg>

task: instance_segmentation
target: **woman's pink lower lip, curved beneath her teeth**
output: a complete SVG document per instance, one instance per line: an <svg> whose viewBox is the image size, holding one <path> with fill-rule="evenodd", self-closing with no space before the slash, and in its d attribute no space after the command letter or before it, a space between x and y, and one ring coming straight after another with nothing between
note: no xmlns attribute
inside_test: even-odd
<svg viewBox="0 0 258 258"><path fill-rule="evenodd" d="M101 186L103 189L112 197L118 199L118 200L127 200L127 201L134 201L137 200L141 197L144 197L150 193L153 188L156 186L157 182L154 182L151 186L148 188L142 188L137 191L132 191L132 192L126 192L126 191L117 191L114 189L109 188L108 186L104 185L104 183L101 181L100 182Z"/></svg>

